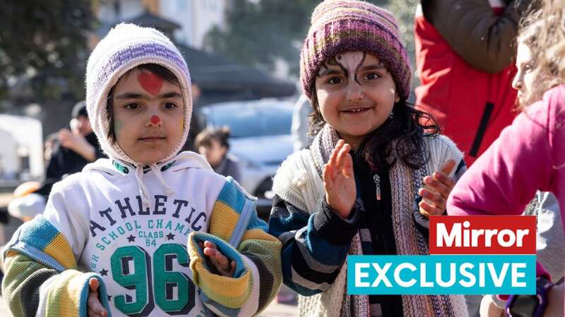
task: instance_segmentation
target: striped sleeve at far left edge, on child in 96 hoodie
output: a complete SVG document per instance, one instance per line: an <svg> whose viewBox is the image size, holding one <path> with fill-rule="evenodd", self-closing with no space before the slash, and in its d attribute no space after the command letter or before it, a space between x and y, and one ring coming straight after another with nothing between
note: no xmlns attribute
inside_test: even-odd
<svg viewBox="0 0 565 317"><path fill-rule="evenodd" d="M14 316L86 316L90 278L109 311L102 278L77 271L69 243L44 216L22 225L4 252L2 294Z"/></svg>

